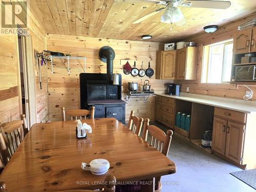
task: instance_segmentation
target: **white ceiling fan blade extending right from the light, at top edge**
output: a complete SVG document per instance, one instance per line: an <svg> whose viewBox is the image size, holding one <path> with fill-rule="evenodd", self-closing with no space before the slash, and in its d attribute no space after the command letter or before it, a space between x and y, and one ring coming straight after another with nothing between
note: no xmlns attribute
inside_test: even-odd
<svg viewBox="0 0 256 192"><path fill-rule="evenodd" d="M185 1L182 4L184 7L209 8L209 9L227 9L231 3L229 1L208 1L208 0L194 0Z"/></svg>

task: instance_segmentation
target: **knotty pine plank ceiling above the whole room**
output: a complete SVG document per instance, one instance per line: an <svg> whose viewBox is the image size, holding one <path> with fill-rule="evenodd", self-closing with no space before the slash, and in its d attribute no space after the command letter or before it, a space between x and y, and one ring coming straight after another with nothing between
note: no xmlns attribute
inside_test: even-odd
<svg viewBox="0 0 256 192"><path fill-rule="evenodd" d="M186 24L183 26L161 23L163 12L140 24L132 24L137 18L161 7L142 2L32 0L30 7L47 33L128 40L141 40L141 35L151 34L152 41L166 42L195 35L206 25L233 22L256 10L255 0L230 1L231 6L226 10L181 8L186 18Z"/></svg>

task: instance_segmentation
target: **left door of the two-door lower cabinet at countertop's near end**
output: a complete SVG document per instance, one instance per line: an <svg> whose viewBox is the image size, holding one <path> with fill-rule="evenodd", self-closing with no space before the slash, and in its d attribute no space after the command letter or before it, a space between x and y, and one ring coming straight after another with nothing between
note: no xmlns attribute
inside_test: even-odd
<svg viewBox="0 0 256 192"><path fill-rule="evenodd" d="M212 133L212 149L225 155L227 120L214 118L214 128Z"/></svg>

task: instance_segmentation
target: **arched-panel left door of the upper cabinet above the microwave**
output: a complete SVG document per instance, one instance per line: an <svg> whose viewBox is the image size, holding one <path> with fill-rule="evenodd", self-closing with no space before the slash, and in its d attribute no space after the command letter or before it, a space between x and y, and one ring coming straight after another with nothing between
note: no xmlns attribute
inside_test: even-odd
<svg viewBox="0 0 256 192"><path fill-rule="evenodd" d="M238 31L234 35L233 51L236 54L248 53L250 47L251 29Z"/></svg>

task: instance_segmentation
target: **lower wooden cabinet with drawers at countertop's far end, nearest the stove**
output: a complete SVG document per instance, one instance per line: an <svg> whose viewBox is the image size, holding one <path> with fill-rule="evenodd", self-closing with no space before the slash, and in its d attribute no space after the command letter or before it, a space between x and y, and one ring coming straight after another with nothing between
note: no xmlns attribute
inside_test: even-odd
<svg viewBox="0 0 256 192"><path fill-rule="evenodd" d="M155 105L155 119L174 129L175 99L157 96Z"/></svg>

